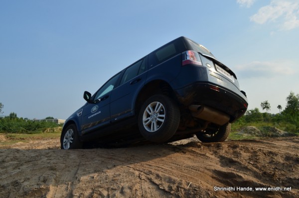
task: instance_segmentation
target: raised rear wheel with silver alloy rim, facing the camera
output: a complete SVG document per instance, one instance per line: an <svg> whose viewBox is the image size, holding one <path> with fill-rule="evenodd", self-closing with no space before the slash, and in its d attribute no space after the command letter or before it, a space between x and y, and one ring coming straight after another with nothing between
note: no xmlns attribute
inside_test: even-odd
<svg viewBox="0 0 299 198"><path fill-rule="evenodd" d="M147 140L163 143L176 132L180 120L177 104L168 96L151 96L141 107L138 116L140 133Z"/></svg>

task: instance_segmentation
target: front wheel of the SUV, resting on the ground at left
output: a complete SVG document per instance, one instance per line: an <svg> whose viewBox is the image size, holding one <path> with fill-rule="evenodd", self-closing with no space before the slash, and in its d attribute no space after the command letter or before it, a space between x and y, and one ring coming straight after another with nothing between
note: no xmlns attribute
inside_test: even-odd
<svg viewBox="0 0 299 198"><path fill-rule="evenodd" d="M60 138L61 149L82 149L82 145L76 125L71 124L62 131Z"/></svg>

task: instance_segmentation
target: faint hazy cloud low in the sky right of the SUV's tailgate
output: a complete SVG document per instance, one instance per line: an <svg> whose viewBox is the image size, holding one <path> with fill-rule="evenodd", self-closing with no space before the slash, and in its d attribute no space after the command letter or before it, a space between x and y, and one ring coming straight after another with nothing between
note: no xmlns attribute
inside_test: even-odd
<svg viewBox="0 0 299 198"><path fill-rule="evenodd" d="M253 61L248 64L238 65L235 71L242 78L277 77L296 73L295 64L287 61Z"/></svg>

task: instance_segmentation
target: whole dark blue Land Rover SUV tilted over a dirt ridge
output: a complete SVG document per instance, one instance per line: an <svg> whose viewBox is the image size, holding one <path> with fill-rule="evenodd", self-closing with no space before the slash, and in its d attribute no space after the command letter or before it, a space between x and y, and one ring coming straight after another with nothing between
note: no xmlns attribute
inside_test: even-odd
<svg viewBox="0 0 299 198"><path fill-rule="evenodd" d="M84 142L225 141L247 110L237 76L204 46L179 37L110 78L65 122L62 149Z"/></svg>

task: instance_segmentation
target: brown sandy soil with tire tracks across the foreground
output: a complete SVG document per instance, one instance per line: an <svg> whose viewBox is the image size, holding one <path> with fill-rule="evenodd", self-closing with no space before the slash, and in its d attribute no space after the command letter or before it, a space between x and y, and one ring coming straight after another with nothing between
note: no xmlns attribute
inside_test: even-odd
<svg viewBox="0 0 299 198"><path fill-rule="evenodd" d="M54 139L0 148L0 198L113 197L298 198L299 137L72 151Z"/></svg>

